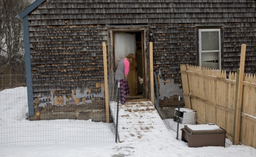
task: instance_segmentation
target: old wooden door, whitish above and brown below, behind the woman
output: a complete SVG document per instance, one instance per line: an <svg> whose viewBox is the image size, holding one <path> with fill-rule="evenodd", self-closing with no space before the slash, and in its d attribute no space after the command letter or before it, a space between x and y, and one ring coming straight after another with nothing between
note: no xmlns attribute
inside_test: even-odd
<svg viewBox="0 0 256 157"><path fill-rule="evenodd" d="M134 33L115 32L114 33L114 47L115 47L115 70L121 59L125 58L129 53L136 56L136 35ZM128 75L129 95L138 95L138 82L137 82L137 62L130 63L130 71Z"/></svg>

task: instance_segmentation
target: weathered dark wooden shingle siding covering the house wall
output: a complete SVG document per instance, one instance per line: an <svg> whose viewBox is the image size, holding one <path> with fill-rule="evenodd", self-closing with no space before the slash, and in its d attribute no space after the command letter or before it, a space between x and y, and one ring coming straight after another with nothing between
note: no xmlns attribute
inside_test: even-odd
<svg viewBox="0 0 256 157"><path fill-rule="evenodd" d="M178 93L180 64L196 65L196 26L223 26L223 69L228 72L239 68L241 44L246 44L245 73L255 74L255 8L254 0L46 0L28 15L33 97L51 96L51 91L71 97L72 90L83 88L102 93L96 83L104 82L107 25L148 25L154 34L154 70L160 80L173 80ZM47 82L42 76L49 76ZM79 83L83 77L91 77L90 82ZM63 89L62 82L75 85Z"/></svg>

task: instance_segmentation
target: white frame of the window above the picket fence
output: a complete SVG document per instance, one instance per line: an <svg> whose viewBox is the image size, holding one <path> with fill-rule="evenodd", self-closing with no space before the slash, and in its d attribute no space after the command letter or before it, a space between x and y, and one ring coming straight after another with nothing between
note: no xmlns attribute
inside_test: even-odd
<svg viewBox="0 0 256 157"><path fill-rule="evenodd" d="M202 51L202 37L201 37L201 32L218 32L219 34L219 50L218 50L218 65L219 65L219 70L221 70L221 29L199 29L199 66L202 66L202 59L201 59L201 53L202 52L217 52L217 50L207 50L207 51Z"/></svg>

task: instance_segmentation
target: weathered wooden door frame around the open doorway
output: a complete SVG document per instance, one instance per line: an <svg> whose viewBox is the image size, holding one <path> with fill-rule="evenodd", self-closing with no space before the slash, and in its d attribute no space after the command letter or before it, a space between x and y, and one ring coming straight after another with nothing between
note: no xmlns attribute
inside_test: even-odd
<svg viewBox="0 0 256 157"><path fill-rule="evenodd" d="M143 89L144 98L150 98L150 53L149 53L149 29L148 25L107 25L108 32L108 66L109 76L114 76L114 32L142 32L142 61L143 61Z"/></svg>

